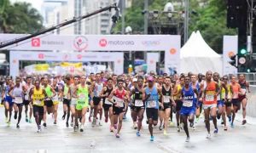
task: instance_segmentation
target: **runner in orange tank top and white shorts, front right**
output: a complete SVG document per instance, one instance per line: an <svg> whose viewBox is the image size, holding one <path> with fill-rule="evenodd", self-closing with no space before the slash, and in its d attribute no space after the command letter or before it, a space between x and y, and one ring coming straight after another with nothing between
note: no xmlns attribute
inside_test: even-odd
<svg viewBox="0 0 256 153"><path fill-rule="evenodd" d="M219 94L218 83L212 81L212 71L207 71L206 82L201 83L201 94L203 99L203 109L205 112L205 123L207 127L207 139L211 138L210 133L210 116L212 117L212 122L214 124L214 133L218 133L217 127L217 96Z"/></svg>

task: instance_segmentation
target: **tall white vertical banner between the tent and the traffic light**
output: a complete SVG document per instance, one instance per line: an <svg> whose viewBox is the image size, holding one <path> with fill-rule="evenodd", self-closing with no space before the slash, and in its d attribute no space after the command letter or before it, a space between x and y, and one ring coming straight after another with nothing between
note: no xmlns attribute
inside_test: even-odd
<svg viewBox="0 0 256 153"><path fill-rule="evenodd" d="M236 55L238 50L237 36L224 36L223 39L223 74L236 74L237 68L230 65L230 56ZM237 62L237 61L236 61Z"/></svg>

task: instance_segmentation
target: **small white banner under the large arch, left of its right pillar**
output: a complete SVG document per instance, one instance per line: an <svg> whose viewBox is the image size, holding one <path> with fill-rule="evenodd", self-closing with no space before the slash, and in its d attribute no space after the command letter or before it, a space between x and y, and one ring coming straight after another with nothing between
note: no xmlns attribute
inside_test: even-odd
<svg viewBox="0 0 256 153"><path fill-rule="evenodd" d="M148 53L147 54L147 65L148 65L147 72L148 73L150 71L156 72L156 62L159 61L159 54L160 53Z"/></svg>

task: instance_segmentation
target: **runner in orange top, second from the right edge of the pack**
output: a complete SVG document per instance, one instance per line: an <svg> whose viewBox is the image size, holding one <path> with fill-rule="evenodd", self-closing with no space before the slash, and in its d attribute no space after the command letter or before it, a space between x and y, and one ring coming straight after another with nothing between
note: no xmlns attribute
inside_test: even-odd
<svg viewBox="0 0 256 153"><path fill-rule="evenodd" d="M232 93L232 100L231 103L233 105L233 116L232 116L232 122L231 122L231 127L234 128L234 121L236 117L237 111L240 110L241 108L241 101L239 100L239 95L243 95L241 92L241 86L240 84L236 81L236 76L231 77L231 93Z"/></svg>

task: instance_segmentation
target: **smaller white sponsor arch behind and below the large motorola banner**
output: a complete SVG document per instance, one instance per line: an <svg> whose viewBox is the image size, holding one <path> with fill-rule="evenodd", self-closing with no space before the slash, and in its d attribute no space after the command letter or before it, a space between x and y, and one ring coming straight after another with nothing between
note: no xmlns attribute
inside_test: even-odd
<svg viewBox="0 0 256 153"><path fill-rule="evenodd" d="M10 51L10 75L19 75L19 61L112 61L114 64L113 73L122 74L124 72L124 53L102 53L102 52L83 52L83 53L54 53L54 52L29 52L29 51ZM67 64L67 63L66 63ZM73 65L76 66L76 65ZM79 66L79 64L77 65Z"/></svg>

